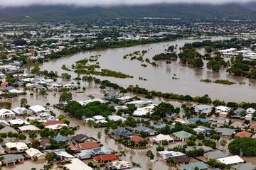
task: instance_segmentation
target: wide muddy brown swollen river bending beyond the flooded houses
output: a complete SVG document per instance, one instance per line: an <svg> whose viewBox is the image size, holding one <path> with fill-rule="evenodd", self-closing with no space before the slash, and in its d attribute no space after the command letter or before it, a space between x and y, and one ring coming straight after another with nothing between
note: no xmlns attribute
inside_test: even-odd
<svg viewBox="0 0 256 170"><path fill-rule="evenodd" d="M212 40L223 40L228 38L213 38ZM220 99L221 101L235 101L235 102L255 102L256 94L256 80L255 79L246 79L245 77L234 77L231 74L225 72L225 69L220 69L220 72L211 72L206 69L206 63L204 61L203 69L194 69L186 65L181 64L179 60L171 61L171 64L166 64L166 62L156 62L157 66L154 67L151 64L146 64L147 67L142 67L142 62L138 60L126 60L123 59L124 55L133 53L134 51L149 50L144 55L144 60L149 58L153 62L152 57L154 55L164 52L168 48L168 45L178 45L182 47L185 42L194 42L202 40L176 40L171 42L160 42L149 45L137 45L134 47L123 47L110 50L99 50L99 51L90 51L90 52L80 52L78 54L63 57L58 60L53 60L46 62L41 65L41 70L53 70L57 71L58 74L67 72L71 74L73 78L78 75L74 72L68 72L61 69L62 65L70 67L72 64L75 64L76 61L89 58L92 55L101 55L97 62L100 62L101 69L111 69L117 72L122 72L124 74L129 74L134 76L133 79L118 79L113 77L98 77L100 79L108 79L114 83L119 84L120 86L127 87L129 85L138 84L140 87L146 89L161 91L164 93L174 93L174 94L183 94L191 96L203 96L208 94L210 98ZM178 50L177 50L178 52ZM199 50L203 53L204 50ZM176 74L176 76L174 76ZM82 75L81 75L82 77ZM97 77L97 76L95 76ZM139 77L147 79L147 81L139 80ZM176 77L178 79L173 79ZM205 83L201 82L201 79L211 79L215 81L216 79L228 79L237 84L226 85L226 84L215 84L215 83ZM246 84L240 85L239 82L243 81Z"/></svg>

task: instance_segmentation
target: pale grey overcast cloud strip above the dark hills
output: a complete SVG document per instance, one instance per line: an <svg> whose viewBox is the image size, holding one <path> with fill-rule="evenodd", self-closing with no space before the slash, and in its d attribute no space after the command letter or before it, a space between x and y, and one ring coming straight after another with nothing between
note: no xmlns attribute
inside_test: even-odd
<svg viewBox="0 0 256 170"><path fill-rule="evenodd" d="M78 6L112 6L112 5L137 5L157 3L209 3L223 4L230 2L246 2L256 0L0 0L0 6L28 6L41 5L78 5Z"/></svg>

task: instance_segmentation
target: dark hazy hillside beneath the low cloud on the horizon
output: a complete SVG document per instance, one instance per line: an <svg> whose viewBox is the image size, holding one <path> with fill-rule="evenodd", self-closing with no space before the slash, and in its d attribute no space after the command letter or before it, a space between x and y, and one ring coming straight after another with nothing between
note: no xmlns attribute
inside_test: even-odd
<svg viewBox="0 0 256 170"><path fill-rule="evenodd" d="M1 13L16 16L32 16L46 19L84 20L93 18L141 18L178 17L206 18L229 16L231 18L250 16L252 11L239 4L154 4L144 6L78 7L78 6L27 6L0 8Z"/></svg>

